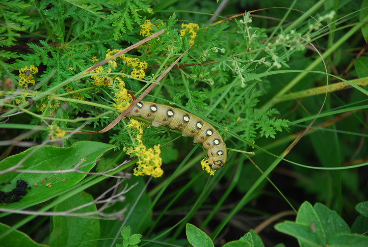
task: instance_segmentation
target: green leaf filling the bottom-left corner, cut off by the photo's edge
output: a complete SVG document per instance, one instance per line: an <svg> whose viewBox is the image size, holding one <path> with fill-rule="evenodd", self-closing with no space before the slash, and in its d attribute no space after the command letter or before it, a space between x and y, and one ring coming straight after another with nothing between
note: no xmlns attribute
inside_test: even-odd
<svg viewBox="0 0 368 247"><path fill-rule="evenodd" d="M11 230L11 227L0 223L0 234ZM26 247L46 247L34 242L26 233L18 230L13 230L10 234L0 239L1 247L15 247L15 246L26 246Z"/></svg>

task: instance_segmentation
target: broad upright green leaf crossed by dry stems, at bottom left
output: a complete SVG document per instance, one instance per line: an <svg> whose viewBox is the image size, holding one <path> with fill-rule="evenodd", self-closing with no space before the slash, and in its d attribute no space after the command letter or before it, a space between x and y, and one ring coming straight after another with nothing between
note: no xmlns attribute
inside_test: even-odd
<svg viewBox="0 0 368 247"><path fill-rule="evenodd" d="M81 192L55 206L54 212L65 212L80 205L93 202L92 195ZM96 204L83 207L73 213L97 212ZM98 217L97 213L90 217ZM53 232L49 245L52 247L90 247L100 238L100 220L81 217L53 217Z"/></svg>

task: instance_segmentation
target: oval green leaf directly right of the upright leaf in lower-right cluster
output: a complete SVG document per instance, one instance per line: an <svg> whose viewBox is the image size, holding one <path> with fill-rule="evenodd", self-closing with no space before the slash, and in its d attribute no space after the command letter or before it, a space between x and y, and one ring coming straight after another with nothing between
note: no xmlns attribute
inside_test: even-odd
<svg viewBox="0 0 368 247"><path fill-rule="evenodd" d="M327 208L321 203L316 203L314 208L326 233L327 242L338 233L350 233L349 226L336 211Z"/></svg>

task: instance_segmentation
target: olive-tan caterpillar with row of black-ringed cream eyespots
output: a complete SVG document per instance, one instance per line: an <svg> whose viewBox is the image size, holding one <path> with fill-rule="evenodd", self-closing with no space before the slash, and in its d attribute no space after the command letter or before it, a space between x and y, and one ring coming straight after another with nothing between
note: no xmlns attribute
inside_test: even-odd
<svg viewBox="0 0 368 247"><path fill-rule="evenodd" d="M185 110L149 101L140 101L128 112L128 117L143 117L152 120L152 126L168 125L181 130L183 137L194 137L194 143L202 143L207 150L209 165L218 170L228 159L226 144L218 130L207 121Z"/></svg>

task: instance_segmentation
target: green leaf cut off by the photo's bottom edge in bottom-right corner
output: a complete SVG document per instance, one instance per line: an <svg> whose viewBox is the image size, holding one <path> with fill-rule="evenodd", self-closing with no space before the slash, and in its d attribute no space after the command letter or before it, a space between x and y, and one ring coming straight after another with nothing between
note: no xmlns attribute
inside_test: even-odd
<svg viewBox="0 0 368 247"><path fill-rule="evenodd" d="M338 234L333 237L328 247L367 247L368 237L358 234Z"/></svg>

